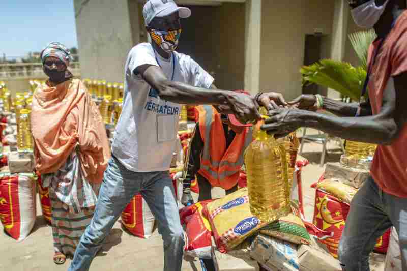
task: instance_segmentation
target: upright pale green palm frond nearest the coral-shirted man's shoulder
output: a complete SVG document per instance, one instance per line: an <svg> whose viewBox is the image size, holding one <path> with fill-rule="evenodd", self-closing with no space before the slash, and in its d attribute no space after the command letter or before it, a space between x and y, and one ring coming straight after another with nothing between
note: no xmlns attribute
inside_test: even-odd
<svg viewBox="0 0 407 271"><path fill-rule="evenodd" d="M371 29L370 31L359 31L349 35L352 46L358 55L362 67L366 70L367 68L367 51L370 44L377 37L376 33Z"/></svg>

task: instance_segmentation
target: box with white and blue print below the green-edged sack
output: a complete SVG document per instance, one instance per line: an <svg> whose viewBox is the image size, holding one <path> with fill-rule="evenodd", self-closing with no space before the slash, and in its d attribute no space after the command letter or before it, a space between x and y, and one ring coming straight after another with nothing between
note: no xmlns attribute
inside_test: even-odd
<svg viewBox="0 0 407 271"><path fill-rule="evenodd" d="M297 271L297 245L259 234L254 240L250 256L270 271Z"/></svg>

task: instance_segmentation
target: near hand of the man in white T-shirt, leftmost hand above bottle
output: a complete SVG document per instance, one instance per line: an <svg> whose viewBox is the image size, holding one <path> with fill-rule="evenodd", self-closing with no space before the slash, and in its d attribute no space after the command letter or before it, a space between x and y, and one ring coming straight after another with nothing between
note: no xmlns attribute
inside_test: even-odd
<svg viewBox="0 0 407 271"><path fill-rule="evenodd" d="M261 119L254 97L243 93L230 92L227 101L239 122L246 124Z"/></svg>

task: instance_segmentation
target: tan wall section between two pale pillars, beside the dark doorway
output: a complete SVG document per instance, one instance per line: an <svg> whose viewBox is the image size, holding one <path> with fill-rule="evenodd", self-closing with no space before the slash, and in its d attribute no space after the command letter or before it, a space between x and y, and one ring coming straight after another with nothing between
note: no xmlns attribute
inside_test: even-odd
<svg viewBox="0 0 407 271"><path fill-rule="evenodd" d="M329 43L334 6L327 0L263 1L261 14L261 91L277 91L287 99L302 92L305 35L321 28ZM328 51L328 44L323 50Z"/></svg>

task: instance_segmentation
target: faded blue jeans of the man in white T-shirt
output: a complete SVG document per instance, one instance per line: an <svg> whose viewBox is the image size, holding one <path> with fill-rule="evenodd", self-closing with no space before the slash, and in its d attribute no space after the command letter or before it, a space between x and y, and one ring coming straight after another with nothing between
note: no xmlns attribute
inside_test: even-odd
<svg viewBox="0 0 407 271"><path fill-rule="evenodd" d="M69 271L89 270L113 224L137 193L141 193L158 222L158 231L164 241L164 271L181 270L184 234L169 173L133 172L112 157L93 219L80 239Z"/></svg>

